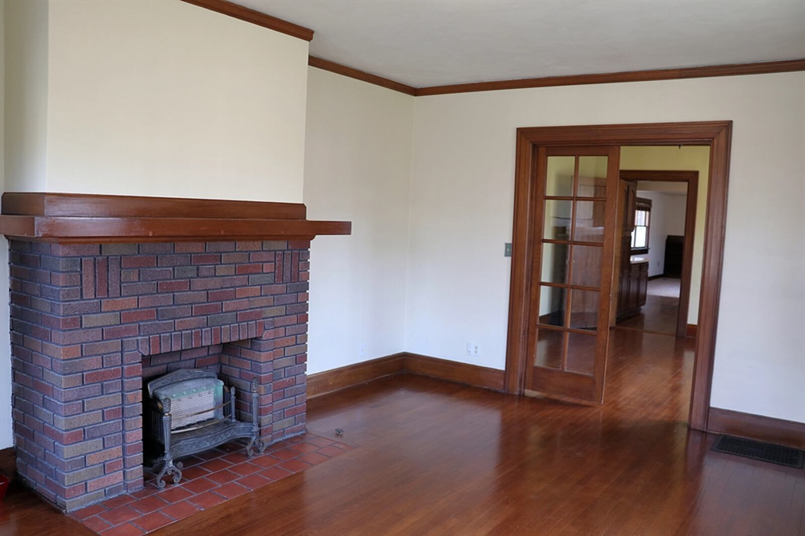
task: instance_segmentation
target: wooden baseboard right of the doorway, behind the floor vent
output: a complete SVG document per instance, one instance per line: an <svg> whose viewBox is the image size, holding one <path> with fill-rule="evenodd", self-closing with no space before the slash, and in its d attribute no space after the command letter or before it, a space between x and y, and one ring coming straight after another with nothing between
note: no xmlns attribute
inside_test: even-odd
<svg viewBox="0 0 805 536"><path fill-rule="evenodd" d="M805 449L805 423L711 407L708 432Z"/></svg>

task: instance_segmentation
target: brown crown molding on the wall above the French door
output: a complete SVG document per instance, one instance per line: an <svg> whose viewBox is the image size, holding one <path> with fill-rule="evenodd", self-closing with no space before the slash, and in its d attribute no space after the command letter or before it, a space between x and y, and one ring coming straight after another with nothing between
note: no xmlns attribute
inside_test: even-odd
<svg viewBox="0 0 805 536"><path fill-rule="evenodd" d="M548 88L557 85L617 84L621 82L644 82L649 80L681 80L684 78L707 78L710 76L738 76L770 74L772 72L805 71L805 59L766 61L753 64L711 65L676 69L649 69L645 71L603 72L599 74L544 76L515 80L493 80L468 84L435 85L417 88L416 96L445 95L448 93L472 93L497 91L499 89Z"/></svg>

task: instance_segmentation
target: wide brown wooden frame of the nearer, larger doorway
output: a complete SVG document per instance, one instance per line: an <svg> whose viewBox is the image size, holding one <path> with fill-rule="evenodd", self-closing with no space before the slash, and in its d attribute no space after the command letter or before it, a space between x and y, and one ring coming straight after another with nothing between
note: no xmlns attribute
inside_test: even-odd
<svg viewBox="0 0 805 536"><path fill-rule="evenodd" d="M514 171L514 230L506 344L507 393L522 394L528 326L530 278L533 258L532 225L542 208L536 206L535 150L539 146L701 145L710 147L704 260L699 302L699 329L691 387L689 426L706 430L710 410L712 365L724 260L727 218L729 151L733 122L679 122L626 125L544 126L517 130Z"/></svg>

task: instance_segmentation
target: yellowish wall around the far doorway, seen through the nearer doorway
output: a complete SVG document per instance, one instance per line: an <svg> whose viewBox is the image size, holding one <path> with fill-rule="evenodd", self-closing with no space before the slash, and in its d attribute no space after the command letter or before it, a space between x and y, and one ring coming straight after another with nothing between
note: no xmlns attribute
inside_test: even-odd
<svg viewBox="0 0 805 536"><path fill-rule="evenodd" d="M687 323L697 324L699 319L699 293L702 281L702 258L704 255L704 224L710 176L710 147L625 146L621 147L621 169L699 171L699 190L696 198L696 232L693 233L691 300L687 308ZM654 275L654 272L650 271L650 274Z"/></svg>

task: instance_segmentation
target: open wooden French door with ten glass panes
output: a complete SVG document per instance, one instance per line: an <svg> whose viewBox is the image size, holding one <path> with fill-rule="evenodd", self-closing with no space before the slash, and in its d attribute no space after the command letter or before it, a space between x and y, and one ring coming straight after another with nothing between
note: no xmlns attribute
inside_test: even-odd
<svg viewBox="0 0 805 536"><path fill-rule="evenodd" d="M620 147L541 147L526 390L602 402Z"/></svg>

